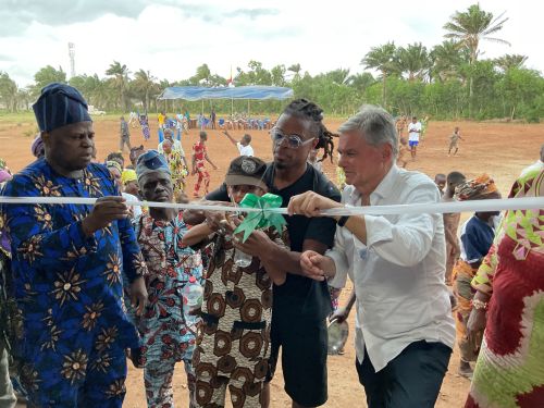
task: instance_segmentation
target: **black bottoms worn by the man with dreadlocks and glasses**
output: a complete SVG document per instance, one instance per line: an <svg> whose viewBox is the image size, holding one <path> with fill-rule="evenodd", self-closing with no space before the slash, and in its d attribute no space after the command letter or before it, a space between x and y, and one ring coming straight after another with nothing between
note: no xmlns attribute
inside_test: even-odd
<svg viewBox="0 0 544 408"><path fill-rule="evenodd" d="M318 407L325 404L326 321L272 317L271 355L267 381L271 381L282 348L285 392L297 404Z"/></svg>

